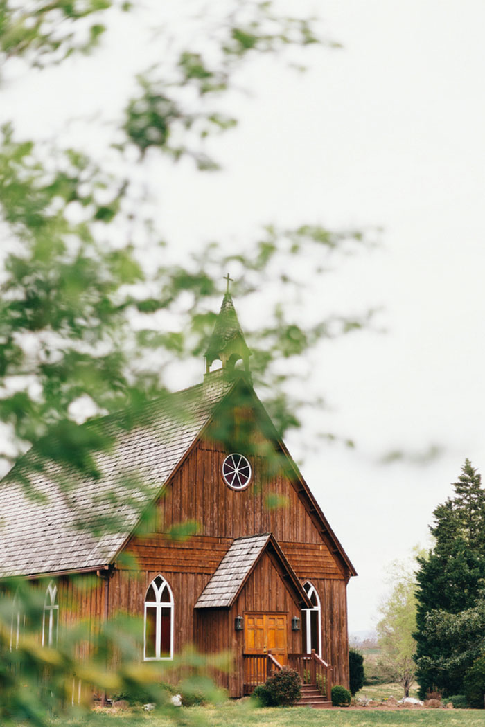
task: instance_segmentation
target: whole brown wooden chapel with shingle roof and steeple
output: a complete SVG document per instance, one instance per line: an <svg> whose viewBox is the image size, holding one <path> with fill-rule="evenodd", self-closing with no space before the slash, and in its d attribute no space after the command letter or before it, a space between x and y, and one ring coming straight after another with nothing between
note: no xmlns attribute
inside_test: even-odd
<svg viewBox="0 0 485 727"><path fill-rule="evenodd" d="M129 428L103 418L114 444L97 454L101 478L44 462L33 475L44 497L32 500L14 467L0 485L0 574L45 590L42 643L80 614L97 622L123 611L143 618L140 659L170 660L191 643L231 651L231 671L216 675L230 696L289 665L309 701L316 686L328 703L331 684L348 687L346 587L356 571L254 393L249 356L226 292L204 381L151 402ZM130 478L143 489L124 502ZM113 494L116 527L95 534L93 512L112 507ZM195 534L174 539L184 523L197 523ZM84 588L92 574L96 587Z"/></svg>

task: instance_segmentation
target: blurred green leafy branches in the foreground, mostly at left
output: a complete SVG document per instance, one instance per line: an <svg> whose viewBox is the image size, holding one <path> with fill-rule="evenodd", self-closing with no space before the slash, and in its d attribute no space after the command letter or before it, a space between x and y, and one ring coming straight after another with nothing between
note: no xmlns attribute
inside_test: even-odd
<svg viewBox="0 0 485 727"><path fill-rule="evenodd" d="M28 74L91 52L109 32L115 11L136 11L124 0L35 0L24 6L0 2L4 76L12 64L15 73ZM194 9L192 20L200 25L190 40L172 44L163 33L157 38L163 62L140 76L123 118L107 122L112 133L106 157L97 156L111 159L107 167L84 148L20 138L15 119L0 131L0 464L6 470L17 463L15 476L31 497L39 496L32 471L52 459L81 478L101 476L96 456L110 449L113 437L102 420L89 427L79 422L129 407L122 424L129 427L147 400L167 393L171 363L204 353L228 265L241 280L235 287L239 298L257 296L262 288L267 294L271 286L278 293L264 306L265 318L249 332L248 343L254 382L269 394L265 403L280 433L300 423L287 387L292 361L367 319L318 311L305 321L295 314L295 300L311 287L308 259L314 273L323 274L334 252L361 246L358 230L268 224L236 254L199 241L196 254L180 258L156 228L153 211L145 214L150 194L140 191L136 179L148 158L183 159L195 172L219 166L207 140L236 126L226 101L248 59L321 42L311 20L278 15L270 2L231 0L223 6L219 14ZM87 126L95 136L95 122ZM278 359L288 363L284 371L275 365ZM21 457L34 443L29 470ZM63 485L67 496L68 478ZM127 486L135 491L143 483ZM113 511L116 505L113 500ZM164 674L140 664L139 625L106 624L89 659L81 659L84 624L63 634L57 648L41 647L42 608L35 588L6 584L0 609L2 725L28 719L41 726L52 710L68 711L76 679L101 691L129 693L142 686L153 701L166 702L156 686ZM20 620L17 638L14 622ZM107 667L113 651L124 657L118 672ZM192 664L195 656L183 658L203 668ZM204 690L209 699L211 687Z"/></svg>

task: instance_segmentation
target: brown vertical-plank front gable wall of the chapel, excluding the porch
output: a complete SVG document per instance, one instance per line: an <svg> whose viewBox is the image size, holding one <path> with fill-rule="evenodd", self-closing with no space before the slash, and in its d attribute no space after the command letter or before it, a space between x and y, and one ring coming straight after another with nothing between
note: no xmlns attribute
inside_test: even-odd
<svg viewBox="0 0 485 727"><path fill-rule="evenodd" d="M220 634L215 638L212 631L207 651L214 643L220 650L228 648L228 643L232 648L239 648L237 640L233 643L237 635L233 632L232 622L223 614L199 614L194 620L193 604L234 538L272 532L297 576L302 582L310 580L318 591L322 606L322 656L332 664L334 683L348 685L348 574L337 555L331 553L323 541L297 491L297 483L280 471L263 485L266 475L262 462L256 458L255 462L252 460L254 475L251 486L243 491L234 491L228 488L220 474L226 454L217 442L200 441L175 473L159 501L154 523L156 532L140 535L129 543L129 552L135 555L140 569L145 571L147 587L158 573L163 574L172 587L177 614L176 650L191 639L200 643L201 629L209 632L217 629ZM265 502L268 492L285 497L286 507L268 509ZM201 534L187 542L167 539L164 533L169 527L185 520L197 521ZM126 598L122 593L120 596L120 606L124 607L122 604ZM138 597L143 610L144 594ZM210 626L209 621L214 624ZM223 683L228 682L223 679ZM235 685L236 682L231 683L231 692L239 688Z"/></svg>

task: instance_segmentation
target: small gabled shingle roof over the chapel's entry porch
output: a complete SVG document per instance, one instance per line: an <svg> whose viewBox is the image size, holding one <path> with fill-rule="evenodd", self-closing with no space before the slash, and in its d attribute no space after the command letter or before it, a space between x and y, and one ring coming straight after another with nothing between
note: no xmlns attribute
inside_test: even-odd
<svg viewBox="0 0 485 727"><path fill-rule="evenodd" d="M273 555L292 582L292 587L302 601L302 606L311 607L308 595L303 589L292 566L286 560L275 537L270 533L236 538L202 591L194 608L228 608L232 606L244 586L262 552L270 546Z"/></svg>

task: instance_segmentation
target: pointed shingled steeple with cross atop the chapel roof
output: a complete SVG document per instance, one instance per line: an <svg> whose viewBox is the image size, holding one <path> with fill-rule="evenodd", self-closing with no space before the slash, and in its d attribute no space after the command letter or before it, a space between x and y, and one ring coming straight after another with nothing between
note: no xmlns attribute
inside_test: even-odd
<svg viewBox="0 0 485 727"><path fill-rule="evenodd" d="M249 371L251 351L244 340L244 334L239 325L233 299L229 292L231 278L228 275L225 279L228 281L228 288L205 353L206 374L209 374L210 367L217 359L222 361L223 369L228 373L234 370L236 362L240 360L244 364L244 371Z"/></svg>

